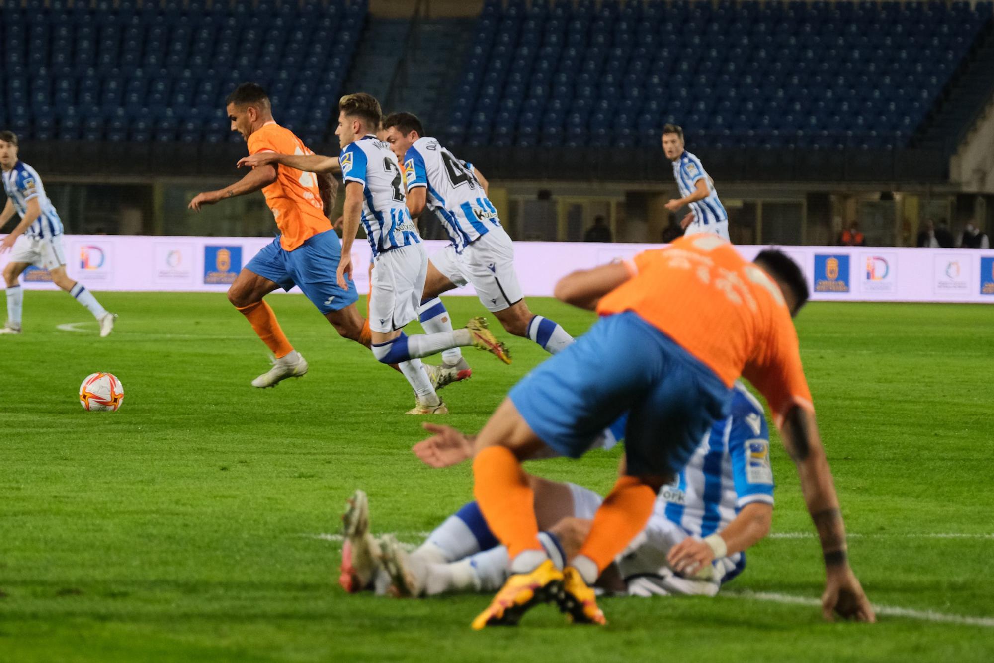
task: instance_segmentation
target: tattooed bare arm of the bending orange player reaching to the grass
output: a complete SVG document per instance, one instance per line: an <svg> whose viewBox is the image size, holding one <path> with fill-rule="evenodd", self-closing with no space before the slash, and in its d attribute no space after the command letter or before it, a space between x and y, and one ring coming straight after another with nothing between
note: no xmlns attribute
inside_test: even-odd
<svg viewBox="0 0 994 663"><path fill-rule="evenodd" d="M814 414L800 406L792 407L783 417L780 436L797 466L804 503L821 542L826 575L825 593L821 597L824 617L831 620L833 613L838 613L847 619L876 621L873 606L849 568L846 526Z"/></svg>

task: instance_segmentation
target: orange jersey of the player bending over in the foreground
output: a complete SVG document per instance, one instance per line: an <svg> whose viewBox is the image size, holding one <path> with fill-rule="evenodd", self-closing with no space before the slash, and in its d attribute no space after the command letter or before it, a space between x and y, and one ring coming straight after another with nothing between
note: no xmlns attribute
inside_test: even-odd
<svg viewBox="0 0 994 663"><path fill-rule="evenodd" d="M713 370L726 385L744 376L779 425L790 406L812 409L797 332L779 287L727 241L702 234L639 253L632 278L597 306L633 311Z"/></svg>

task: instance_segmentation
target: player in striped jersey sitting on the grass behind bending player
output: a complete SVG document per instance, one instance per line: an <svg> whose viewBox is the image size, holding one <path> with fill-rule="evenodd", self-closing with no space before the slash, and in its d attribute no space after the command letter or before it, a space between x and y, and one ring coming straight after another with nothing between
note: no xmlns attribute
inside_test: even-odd
<svg viewBox="0 0 994 663"><path fill-rule="evenodd" d="M612 428L609 442L620 436L623 420ZM439 434L415 451L437 466L442 463L432 451L438 444L457 446L464 440L450 428L432 429ZM562 565L580 550L601 497L573 483L538 477L530 482L539 527L546 530L540 539ZM772 510L769 430L762 406L737 384L732 414L715 423L677 479L660 490L645 530L599 583L637 596L713 596L745 569L745 549L769 532ZM390 535L369 534L362 491L350 500L344 520L339 581L349 591L385 592L391 586L394 593L412 596L494 591L507 580L507 549L498 546L475 502L445 520L411 554Z"/></svg>

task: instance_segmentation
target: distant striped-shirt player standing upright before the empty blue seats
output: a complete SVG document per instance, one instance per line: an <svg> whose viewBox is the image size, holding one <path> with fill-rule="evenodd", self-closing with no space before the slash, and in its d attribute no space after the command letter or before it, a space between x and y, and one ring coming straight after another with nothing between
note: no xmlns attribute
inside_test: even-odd
<svg viewBox="0 0 994 663"><path fill-rule="evenodd" d="M701 160L684 149L683 129L676 124L663 127L663 152L673 162L673 177L682 198L671 200L666 209L676 212L685 205L690 213L680 221L685 235L714 233L729 239L729 213L718 199L715 183L704 171Z"/></svg>

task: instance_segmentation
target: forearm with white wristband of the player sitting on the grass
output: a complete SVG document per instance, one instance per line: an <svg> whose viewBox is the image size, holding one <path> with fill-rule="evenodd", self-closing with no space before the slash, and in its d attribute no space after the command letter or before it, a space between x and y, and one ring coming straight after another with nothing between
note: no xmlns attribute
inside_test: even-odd
<svg viewBox="0 0 994 663"><path fill-rule="evenodd" d="M742 553L769 534L773 507L762 502L746 504L729 526L703 541L687 537L666 556L673 571L693 575L729 555Z"/></svg>

